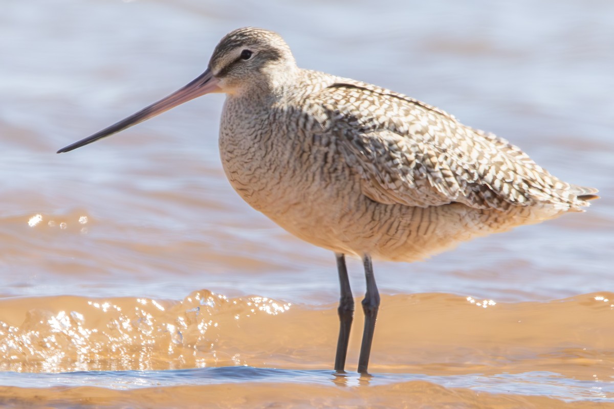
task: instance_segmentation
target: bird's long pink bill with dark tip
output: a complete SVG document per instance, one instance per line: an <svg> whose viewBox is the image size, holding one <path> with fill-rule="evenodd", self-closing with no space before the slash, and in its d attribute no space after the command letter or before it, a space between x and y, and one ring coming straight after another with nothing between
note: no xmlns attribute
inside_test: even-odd
<svg viewBox="0 0 614 409"><path fill-rule="evenodd" d="M98 139L107 137L109 135L115 134L119 131L123 131L123 129L130 128L130 126L141 123L142 121L146 121L149 118L153 118L156 115L168 111L171 108L176 107L177 105L181 105L184 102L190 101L196 97L199 97L204 94L220 92L221 89L217 86L217 78L211 74L209 69L203 74L196 77L192 82L185 85L180 90L175 91L169 96L160 99L160 101L155 102L149 107L146 107L140 110L130 117L125 118L118 123L112 124L108 128L104 128L102 131L96 132L95 134L88 136L85 139L79 140L75 143L71 143L67 147L63 147L58 150L58 153L68 152L76 148L80 148L88 143L95 142Z"/></svg>

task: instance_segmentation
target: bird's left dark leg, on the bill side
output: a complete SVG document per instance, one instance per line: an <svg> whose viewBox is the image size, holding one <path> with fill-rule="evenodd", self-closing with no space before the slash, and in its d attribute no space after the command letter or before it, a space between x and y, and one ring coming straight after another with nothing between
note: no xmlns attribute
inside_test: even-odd
<svg viewBox="0 0 614 409"><path fill-rule="evenodd" d="M337 258L337 270L339 271L339 284L341 286L341 298L339 299L339 340L337 341L337 354L335 356L336 372L343 372L346 354L348 353L349 331L352 327L354 316L354 298L352 289L349 287L348 269L345 265L345 256L335 253Z"/></svg>

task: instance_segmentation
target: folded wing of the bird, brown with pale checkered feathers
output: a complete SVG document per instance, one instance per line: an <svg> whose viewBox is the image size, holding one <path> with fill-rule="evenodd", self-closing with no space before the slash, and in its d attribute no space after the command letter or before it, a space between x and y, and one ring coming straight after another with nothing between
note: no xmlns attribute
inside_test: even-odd
<svg viewBox="0 0 614 409"><path fill-rule="evenodd" d="M309 99L323 109L322 132L338 141L341 157L360 174L363 194L374 201L500 210L535 202L578 205L569 184L518 147L423 102L359 82L334 83Z"/></svg>

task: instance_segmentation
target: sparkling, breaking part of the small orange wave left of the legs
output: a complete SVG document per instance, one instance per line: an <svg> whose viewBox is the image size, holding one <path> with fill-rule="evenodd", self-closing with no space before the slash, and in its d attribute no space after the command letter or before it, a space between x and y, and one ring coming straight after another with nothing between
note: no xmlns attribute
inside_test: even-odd
<svg viewBox="0 0 614 409"><path fill-rule="evenodd" d="M244 321L290 308L266 297L228 299L207 290L179 302L74 296L1 302L0 369L14 372L242 364L239 350L224 351L235 350L225 346L240 336Z"/></svg>

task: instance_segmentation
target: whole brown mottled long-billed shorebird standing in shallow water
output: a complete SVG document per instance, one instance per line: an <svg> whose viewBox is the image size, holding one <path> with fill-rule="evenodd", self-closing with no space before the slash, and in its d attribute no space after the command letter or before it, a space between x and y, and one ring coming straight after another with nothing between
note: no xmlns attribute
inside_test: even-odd
<svg viewBox="0 0 614 409"><path fill-rule="evenodd" d="M208 93L225 93L219 150L230 185L290 234L333 251L340 281L335 371L345 373L354 298L346 255L367 283L357 371L368 375L380 297L373 259L413 262L567 212L597 189L563 182L523 150L425 102L302 69L282 37L246 27L203 74L67 152Z"/></svg>

